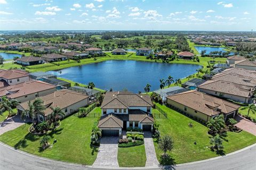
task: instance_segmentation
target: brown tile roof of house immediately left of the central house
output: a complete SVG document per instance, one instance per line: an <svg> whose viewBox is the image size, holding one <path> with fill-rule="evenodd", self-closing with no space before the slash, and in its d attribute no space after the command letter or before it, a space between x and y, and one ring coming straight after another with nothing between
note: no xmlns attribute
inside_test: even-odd
<svg viewBox="0 0 256 170"><path fill-rule="evenodd" d="M51 107L60 107L60 109L63 109L88 97L89 96L79 94L71 90L62 89L39 98L44 101L44 106L46 107L44 111L44 116L47 116L52 113ZM35 99L31 100L31 102L33 102L34 100ZM86 103L84 105L86 105ZM23 109L28 109L28 101L21 103L20 106Z"/></svg>

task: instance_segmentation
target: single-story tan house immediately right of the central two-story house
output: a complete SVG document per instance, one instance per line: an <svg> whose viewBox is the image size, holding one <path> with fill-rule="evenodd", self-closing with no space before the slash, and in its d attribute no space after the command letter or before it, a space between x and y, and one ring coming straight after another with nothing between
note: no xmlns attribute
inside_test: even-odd
<svg viewBox="0 0 256 170"><path fill-rule="evenodd" d="M240 107L229 101L194 90L167 97L167 105L183 114L202 120L204 123L220 114L225 116L225 120L235 117Z"/></svg>

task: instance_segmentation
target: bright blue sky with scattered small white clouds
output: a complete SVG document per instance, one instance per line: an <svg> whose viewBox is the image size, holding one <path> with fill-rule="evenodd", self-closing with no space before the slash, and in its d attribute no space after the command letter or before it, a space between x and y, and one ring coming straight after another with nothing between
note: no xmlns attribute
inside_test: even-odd
<svg viewBox="0 0 256 170"><path fill-rule="evenodd" d="M0 0L0 30L255 31L256 1Z"/></svg>

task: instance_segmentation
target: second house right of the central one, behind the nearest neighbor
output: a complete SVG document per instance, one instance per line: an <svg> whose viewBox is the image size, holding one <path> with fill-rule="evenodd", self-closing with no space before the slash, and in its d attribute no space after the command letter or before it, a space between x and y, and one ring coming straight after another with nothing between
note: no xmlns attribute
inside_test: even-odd
<svg viewBox="0 0 256 170"><path fill-rule="evenodd" d="M251 103L253 97L253 89L251 87L222 80L208 80L201 84L197 90L241 103Z"/></svg>

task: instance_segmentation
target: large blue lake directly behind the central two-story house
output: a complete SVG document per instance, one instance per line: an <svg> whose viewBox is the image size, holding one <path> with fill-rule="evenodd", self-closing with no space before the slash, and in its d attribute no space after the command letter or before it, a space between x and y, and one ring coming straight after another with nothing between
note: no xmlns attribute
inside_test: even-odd
<svg viewBox="0 0 256 170"><path fill-rule="evenodd" d="M201 67L196 64L168 64L141 61L110 60L100 63L69 67L59 71L49 71L60 78L88 84L94 82L100 89L123 90L124 88L138 93L144 92L147 83L151 85L150 91L159 89L159 79L186 78L194 74Z"/></svg>

